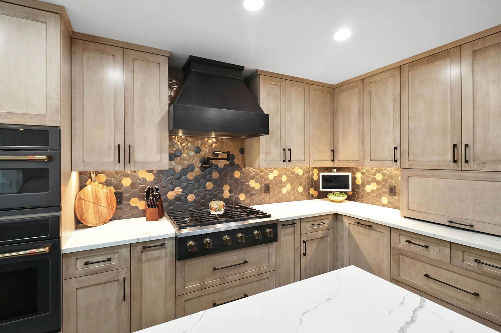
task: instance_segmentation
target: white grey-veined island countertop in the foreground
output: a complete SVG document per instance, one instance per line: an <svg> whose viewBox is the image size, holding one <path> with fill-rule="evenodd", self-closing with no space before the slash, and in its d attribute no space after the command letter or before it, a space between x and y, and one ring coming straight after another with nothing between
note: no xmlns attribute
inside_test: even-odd
<svg viewBox="0 0 501 333"><path fill-rule="evenodd" d="M355 266L140 330L141 333L495 331Z"/></svg>

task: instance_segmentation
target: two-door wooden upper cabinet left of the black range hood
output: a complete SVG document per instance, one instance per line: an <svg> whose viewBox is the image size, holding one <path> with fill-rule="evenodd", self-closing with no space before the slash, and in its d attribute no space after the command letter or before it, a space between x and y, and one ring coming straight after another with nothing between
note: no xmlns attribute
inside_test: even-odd
<svg viewBox="0 0 501 333"><path fill-rule="evenodd" d="M168 168L168 57L72 39L72 169Z"/></svg>

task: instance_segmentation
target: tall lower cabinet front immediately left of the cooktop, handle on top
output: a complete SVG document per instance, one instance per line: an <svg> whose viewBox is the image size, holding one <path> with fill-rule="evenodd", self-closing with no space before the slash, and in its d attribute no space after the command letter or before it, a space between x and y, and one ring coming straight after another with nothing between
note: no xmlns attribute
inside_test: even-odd
<svg viewBox="0 0 501 333"><path fill-rule="evenodd" d="M167 238L130 245L131 332L174 319L174 243Z"/></svg>

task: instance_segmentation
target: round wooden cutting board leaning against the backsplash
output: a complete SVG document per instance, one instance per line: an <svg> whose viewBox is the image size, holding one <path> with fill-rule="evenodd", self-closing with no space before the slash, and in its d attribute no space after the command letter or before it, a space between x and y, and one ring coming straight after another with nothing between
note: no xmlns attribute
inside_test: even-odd
<svg viewBox="0 0 501 333"><path fill-rule="evenodd" d="M97 182L85 186L75 198L75 215L89 226L108 222L117 208L117 201L112 191Z"/></svg>

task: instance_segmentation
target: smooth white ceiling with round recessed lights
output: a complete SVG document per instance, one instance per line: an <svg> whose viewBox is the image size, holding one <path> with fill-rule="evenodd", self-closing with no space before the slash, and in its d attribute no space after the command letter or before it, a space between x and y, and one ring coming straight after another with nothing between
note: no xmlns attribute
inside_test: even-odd
<svg viewBox="0 0 501 333"><path fill-rule="evenodd" d="M49 0L75 31L337 83L501 23L501 0ZM352 38L334 41L342 27Z"/></svg>

